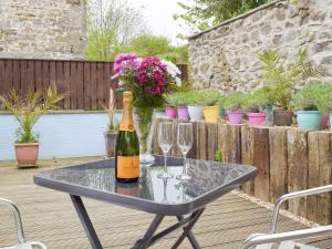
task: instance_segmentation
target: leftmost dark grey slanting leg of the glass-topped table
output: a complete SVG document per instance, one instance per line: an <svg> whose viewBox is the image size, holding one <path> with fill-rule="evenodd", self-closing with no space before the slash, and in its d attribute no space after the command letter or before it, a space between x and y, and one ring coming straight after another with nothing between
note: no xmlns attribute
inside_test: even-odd
<svg viewBox="0 0 332 249"><path fill-rule="evenodd" d="M93 249L103 249L80 196L70 195Z"/></svg>

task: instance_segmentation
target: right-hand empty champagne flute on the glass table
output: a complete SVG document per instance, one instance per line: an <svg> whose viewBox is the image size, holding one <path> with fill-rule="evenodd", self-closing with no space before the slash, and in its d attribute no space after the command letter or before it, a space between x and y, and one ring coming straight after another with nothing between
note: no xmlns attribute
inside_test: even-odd
<svg viewBox="0 0 332 249"><path fill-rule="evenodd" d="M179 123L177 126L177 146L184 156L183 174L176 178L179 180L189 180L191 177L187 174L187 154L193 147L193 124Z"/></svg>

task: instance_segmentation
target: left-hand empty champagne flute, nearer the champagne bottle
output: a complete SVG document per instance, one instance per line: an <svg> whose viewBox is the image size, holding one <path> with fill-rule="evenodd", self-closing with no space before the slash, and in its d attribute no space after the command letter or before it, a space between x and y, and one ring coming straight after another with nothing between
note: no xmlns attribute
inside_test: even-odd
<svg viewBox="0 0 332 249"><path fill-rule="evenodd" d="M173 175L167 172L167 154L173 146L173 123L162 122L158 131L158 144L164 153L164 173L158 174L159 178L169 179Z"/></svg>

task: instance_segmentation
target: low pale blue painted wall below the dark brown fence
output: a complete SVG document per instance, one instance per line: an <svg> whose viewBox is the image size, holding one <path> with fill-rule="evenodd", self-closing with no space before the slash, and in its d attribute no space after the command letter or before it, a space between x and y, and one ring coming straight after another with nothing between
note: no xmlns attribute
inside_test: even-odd
<svg viewBox="0 0 332 249"><path fill-rule="evenodd" d="M35 124L40 133L40 159L105 155L105 113L49 114ZM13 143L18 122L0 115L0 160L14 159Z"/></svg>

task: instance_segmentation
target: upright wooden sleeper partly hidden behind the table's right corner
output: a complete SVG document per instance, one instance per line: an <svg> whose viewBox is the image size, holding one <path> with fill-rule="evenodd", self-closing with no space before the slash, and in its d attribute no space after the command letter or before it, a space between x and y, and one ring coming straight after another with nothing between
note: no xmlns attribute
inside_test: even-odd
<svg viewBox="0 0 332 249"><path fill-rule="evenodd" d="M248 125L241 127L241 163L246 165L253 165L253 135L252 127ZM242 190L248 195L253 195L255 180L245 184Z"/></svg>

